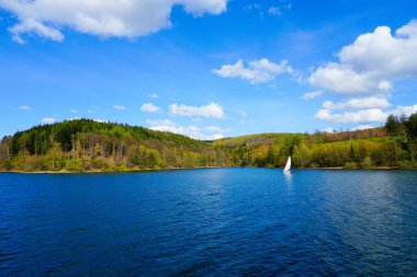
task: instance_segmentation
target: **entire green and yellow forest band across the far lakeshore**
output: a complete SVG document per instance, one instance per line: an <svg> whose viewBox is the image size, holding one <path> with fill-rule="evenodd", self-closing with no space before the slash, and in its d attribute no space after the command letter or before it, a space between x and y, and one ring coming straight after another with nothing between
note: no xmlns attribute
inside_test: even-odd
<svg viewBox="0 0 417 277"><path fill-rule="evenodd" d="M40 125L2 138L0 171L125 172L201 166L417 168L417 113L383 128L260 134L201 141L92 119Z"/></svg>

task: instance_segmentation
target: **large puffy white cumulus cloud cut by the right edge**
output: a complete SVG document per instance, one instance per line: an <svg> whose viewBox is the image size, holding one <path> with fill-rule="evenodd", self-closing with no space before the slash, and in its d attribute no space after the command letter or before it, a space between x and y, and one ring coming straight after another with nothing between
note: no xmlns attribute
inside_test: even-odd
<svg viewBox="0 0 417 277"><path fill-rule="evenodd" d="M360 35L338 53L338 62L328 62L308 78L312 85L336 94L386 94L393 82L417 78L417 21L398 28L387 26Z"/></svg>

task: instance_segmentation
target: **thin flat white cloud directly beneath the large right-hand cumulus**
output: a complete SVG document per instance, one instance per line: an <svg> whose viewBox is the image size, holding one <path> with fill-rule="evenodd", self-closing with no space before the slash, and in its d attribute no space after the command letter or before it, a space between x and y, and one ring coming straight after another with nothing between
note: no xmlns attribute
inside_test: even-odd
<svg viewBox="0 0 417 277"><path fill-rule="evenodd" d="M386 108L390 103L386 99L382 97L365 97L365 99L351 99L345 103L333 103L331 101L325 101L323 103L323 108L326 109L362 109L362 108Z"/></svg>

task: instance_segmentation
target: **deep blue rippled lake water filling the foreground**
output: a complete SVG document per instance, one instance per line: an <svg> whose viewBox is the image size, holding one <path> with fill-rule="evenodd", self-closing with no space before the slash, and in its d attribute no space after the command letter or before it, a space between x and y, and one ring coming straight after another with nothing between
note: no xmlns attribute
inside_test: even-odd
<svg viewBox="0 0 417 277"><path fill-rule="evenodd" d="M0 275L417 274L417 171L0 174Z"/></svg>

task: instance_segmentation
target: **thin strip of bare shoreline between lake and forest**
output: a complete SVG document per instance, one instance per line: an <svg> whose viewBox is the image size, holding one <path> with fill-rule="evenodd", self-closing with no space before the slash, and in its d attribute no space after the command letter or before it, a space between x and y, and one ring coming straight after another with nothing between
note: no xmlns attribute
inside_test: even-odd
<svg viewBox="0 0 417 277"><path fill-rule="evenodd" d="M282 170L283 168L256 168L256 166L195 166L195 168L167 168L157 170L127 170L127 171L0 171L0 173L16 173L16 174L111 174L111 173L144 173L144 172L162 172L162 171L176 171L176 170L203 170L203 169L268 169L268 170ZM417 170L416 168L398 168L398 166L375 166L371 169L347 169L343 166L325 166L325 168L294 168L294 170Z"/></svg>

